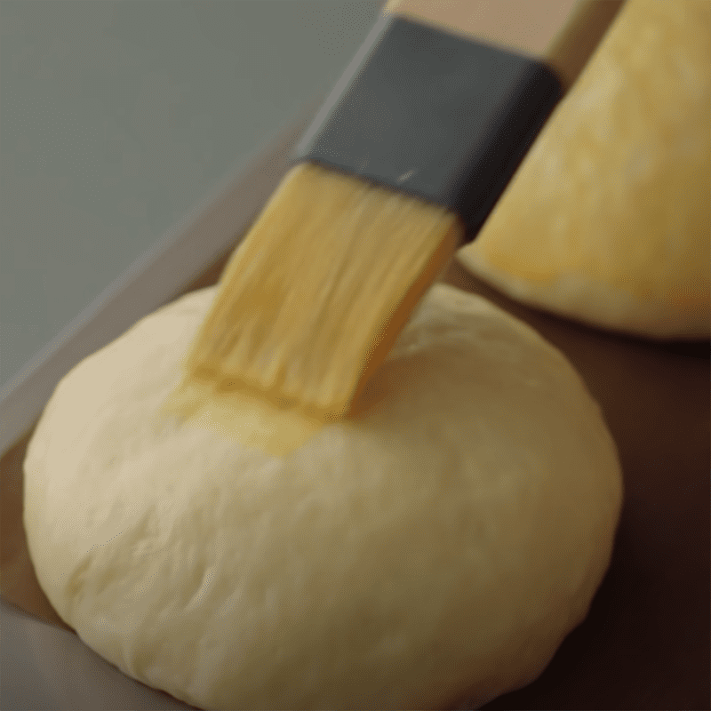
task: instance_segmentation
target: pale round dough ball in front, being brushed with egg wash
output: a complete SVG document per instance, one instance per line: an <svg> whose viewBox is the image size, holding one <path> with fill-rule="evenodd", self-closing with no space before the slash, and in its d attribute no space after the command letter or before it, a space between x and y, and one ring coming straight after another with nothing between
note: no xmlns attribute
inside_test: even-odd
<svg viewBox="0 0 711 711"><path fill-rule="evenodd" d="M204 708L482 704L539 675L587 614L621 499L566 359L435 286L369 407L275 457L162 410L214 293L76 366L36 428L25 525L62 619Z"/></svg>

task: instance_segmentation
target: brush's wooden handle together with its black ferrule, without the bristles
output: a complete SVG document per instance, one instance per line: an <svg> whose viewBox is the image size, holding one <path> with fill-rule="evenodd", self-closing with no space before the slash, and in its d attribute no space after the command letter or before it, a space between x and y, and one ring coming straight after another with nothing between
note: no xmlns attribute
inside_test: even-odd
<svg viewBox="0 0 711 711"><path fill-rule="evenodd" d="M390 0L299 146L474 239L622 0Z"/></svg>

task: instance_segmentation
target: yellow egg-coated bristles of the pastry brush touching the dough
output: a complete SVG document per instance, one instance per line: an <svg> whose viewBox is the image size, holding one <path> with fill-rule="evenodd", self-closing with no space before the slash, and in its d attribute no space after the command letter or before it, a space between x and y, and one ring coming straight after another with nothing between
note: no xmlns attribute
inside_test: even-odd
<svg viewBox="0 0 711 711"><path fill-rule="evenodd" d="M445 208L301 164L228 263L189 377L344 416L459 244Z"/></svg>

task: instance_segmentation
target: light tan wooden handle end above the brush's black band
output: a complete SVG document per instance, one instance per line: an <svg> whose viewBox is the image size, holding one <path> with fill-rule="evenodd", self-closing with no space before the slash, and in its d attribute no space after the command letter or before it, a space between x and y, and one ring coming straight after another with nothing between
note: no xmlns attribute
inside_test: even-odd
<svg viewBox="0 0 711 711"><path fill-rule="evenodd" d="M384 12L542 60L567 90L625 0L389 0Z"/></svg>

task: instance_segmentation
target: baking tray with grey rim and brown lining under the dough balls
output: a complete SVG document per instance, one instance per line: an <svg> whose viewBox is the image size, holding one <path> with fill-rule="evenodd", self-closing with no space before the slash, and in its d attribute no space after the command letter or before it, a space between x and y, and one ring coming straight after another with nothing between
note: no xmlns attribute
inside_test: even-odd
<svg viewBox="0 0 711 711"><path fill-rule="evenodd" d="M237 236L284 174L303 125L237 172L1 396L2 707L188 708L121 675L52 610L22 531L22 459L37 416L72 365L141 316L217 281ZM505 308L568 356L602 405L625 479L611 567L587 619L535 683L484 708L711 707L709 343L597 331L509 300L457 263L445 281Z"/></svg>

